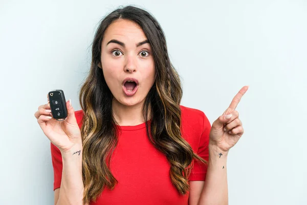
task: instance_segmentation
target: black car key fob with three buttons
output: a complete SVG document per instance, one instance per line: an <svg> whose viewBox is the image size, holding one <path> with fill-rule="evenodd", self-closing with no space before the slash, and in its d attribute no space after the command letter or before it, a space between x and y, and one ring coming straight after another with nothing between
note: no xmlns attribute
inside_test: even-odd
<svg viewBox="0 0 307 205"><path fill-rule="evenodd" d="M63 121L67 118L67 108L64 92L53 90L48 93L51 113L54 119Z"/></svg>

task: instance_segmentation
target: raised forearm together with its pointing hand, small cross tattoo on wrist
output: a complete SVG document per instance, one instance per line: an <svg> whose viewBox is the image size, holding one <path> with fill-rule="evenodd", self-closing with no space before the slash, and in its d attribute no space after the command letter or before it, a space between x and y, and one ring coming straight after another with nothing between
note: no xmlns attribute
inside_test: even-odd
<svg viewBox="0 0 307 205"><path fill-rule="evenodd" d="M244 86L240 89L223 115L212 124L208 145L209 163L199 205L228 204L227 156L230 148L244 133L242 121L235 109L248 88Z"/></svg>

